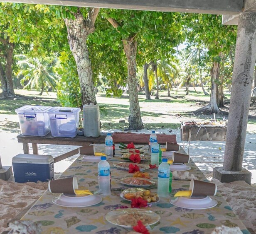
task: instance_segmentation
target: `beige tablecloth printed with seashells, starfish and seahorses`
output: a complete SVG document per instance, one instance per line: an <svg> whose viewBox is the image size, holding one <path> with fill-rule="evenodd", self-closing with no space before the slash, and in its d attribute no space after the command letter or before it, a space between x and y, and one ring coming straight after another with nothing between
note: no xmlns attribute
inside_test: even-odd
<svg viewBox="0 0 256 234"><path fill-rule="evenodd" d="M144 146L145 152L148 146ZM104 151L104 147L102 146ZM184 151L181 151L184 152ZM62 207L54 205L52 199L59 194L49 193L47 190L35 205L22 217L22 220L32 220L42 224L43 234L68 234L68 233L95 233L95 234L126 234L129 229L118 227L108 223L105 216L111 210L128 206L130 202L123 200L119 194L128 188L116 181L117 178L131 177L128 171L117 169L114 162L124 161L121 159L120 150L116 145L116 156L108 162L111 165L111 195L103 197L98 205L91 207ZM97 162L83 162L79 159L62 174L60 178L76 176L79 188L98 189ZM207 181L197 166L190 161L190 173L197 176L199 180ZM147 169L152 180L157 181L158 169ZM187 190L190 181L172 181L172 194L177 191ZM152 189L156 192L157 189ZM226 203L222 195L217 192L213 197L217 200L216 207L205 210L192 210L176 207L169 202L170 198L161 198L160 202L145 207L160 215L161 219L157 224L150 226L150 233L180 233L180 234L207 234L217 226L226 225L228 227L239 227L244 234L249 234L244 224L234 214L231 207Z"/></svg>

